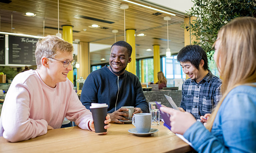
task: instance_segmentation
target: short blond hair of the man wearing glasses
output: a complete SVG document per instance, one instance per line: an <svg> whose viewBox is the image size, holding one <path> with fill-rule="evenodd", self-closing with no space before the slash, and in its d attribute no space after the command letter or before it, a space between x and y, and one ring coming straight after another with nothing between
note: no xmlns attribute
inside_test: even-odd
<svg viewBox="0 0 256 153"><path fill-rule="evenodd" d="M57 36L46 36L39 39L36 43L36 65L37 68L41 67L42 57L54 58L58 53L72 53L73 45ZM57 52L58 51L58 52Z"/></svg>

